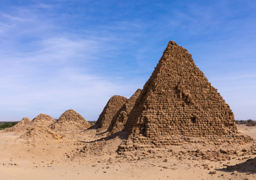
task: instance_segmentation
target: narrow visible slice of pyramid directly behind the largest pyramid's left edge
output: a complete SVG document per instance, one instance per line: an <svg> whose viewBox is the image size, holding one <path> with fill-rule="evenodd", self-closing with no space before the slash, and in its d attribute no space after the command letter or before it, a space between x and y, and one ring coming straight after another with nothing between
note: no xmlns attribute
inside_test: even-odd
<svg viewBox="0 0 256 180"><path fill-rule="evenodd" d="M108 128L108 131L110 131L111 134L123 130L124 124L126 123L129 114L133 110L135 102L139 97L141 91L141 89L138 89L114 115L112 122Z"/></svg>

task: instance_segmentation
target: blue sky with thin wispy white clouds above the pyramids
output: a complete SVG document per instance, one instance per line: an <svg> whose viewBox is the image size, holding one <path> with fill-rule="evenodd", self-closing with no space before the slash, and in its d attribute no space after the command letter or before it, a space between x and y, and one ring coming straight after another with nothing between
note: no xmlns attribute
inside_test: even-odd
<svg viewBox="0 0 256 180"><path fill-rule="evenodd" d="M169 41L187 49L237 120L256 120L256 2L0 0L0 121L96 121L131 97Z"/></svg>

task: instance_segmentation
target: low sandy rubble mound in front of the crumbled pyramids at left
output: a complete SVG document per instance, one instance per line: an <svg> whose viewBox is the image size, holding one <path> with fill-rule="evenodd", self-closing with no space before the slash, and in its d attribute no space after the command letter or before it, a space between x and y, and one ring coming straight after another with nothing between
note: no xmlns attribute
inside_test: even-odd
<svg viewBox="0 0 256 180"><path fill-rule="evenodd" d="M50 130L47 127L37 126L35 128L32 128L28 130L25 134L20 136L23 139L31 139L31 138L37 138L37 139L61 139L62 137L57 134L56 132Z"/></svg>

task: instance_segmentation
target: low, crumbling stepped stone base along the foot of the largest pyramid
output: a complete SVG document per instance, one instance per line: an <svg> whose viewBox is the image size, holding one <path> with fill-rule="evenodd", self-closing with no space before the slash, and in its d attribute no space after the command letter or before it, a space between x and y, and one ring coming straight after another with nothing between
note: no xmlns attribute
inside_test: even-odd
<svg viewBox="0 0 256 180"><path fill-rule="evenodd" d="M183 145L188 143L202 143L221 145L228 144L242 144L250 143L253 138L242 133L232 133L226 135L208 135L205 137L189 137L184 135L165 135L162 137L145 137L142 134L130 135L127 140L124 140L118 147L119 155L125 155L132 151L147 150L150 148L160 148L168 145Z"/></svg>

